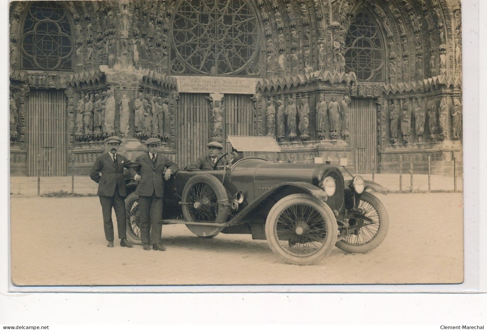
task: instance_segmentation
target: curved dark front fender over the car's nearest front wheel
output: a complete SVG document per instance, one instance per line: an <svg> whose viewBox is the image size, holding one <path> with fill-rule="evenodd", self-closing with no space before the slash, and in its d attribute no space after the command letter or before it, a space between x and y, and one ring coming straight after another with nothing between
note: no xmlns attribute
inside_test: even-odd
<svg viewBox="0 0 487 330"><path fill-rule="evenodd" d="M244 222L253 213L262 211L262 207L270 209L281 198L296 193L309 194L322 202L326 202L326 200L328 199L328 196L326 195L324 190L318 188L316 185L313 185L311 183L280 183L272 187L272 189L267 190L261 196L257 197L254 201L248 204L242 211L237 213L229 221L229 224L234 225Z"/></svg>

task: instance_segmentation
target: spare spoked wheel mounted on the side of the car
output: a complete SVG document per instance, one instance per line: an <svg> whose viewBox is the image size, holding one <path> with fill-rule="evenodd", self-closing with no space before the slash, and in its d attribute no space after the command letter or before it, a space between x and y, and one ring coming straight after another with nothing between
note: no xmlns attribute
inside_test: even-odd
<svg viewBox="0 0 487 330"><path fill-rule="evenodd" d="M182 195L183 216L186 221L225 223L229 214L228 196L223 184L210 174L198 174L189 179ZM224 227L186 225L199 237L212 238Z"/></svg>

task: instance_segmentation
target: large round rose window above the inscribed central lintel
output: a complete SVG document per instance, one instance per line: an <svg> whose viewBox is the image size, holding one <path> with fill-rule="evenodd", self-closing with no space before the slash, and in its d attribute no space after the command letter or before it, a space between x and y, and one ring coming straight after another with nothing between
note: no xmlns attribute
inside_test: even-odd
<svg viewBox="0 0 487 330"><path fill-rule="evenodd" d="M259 31L245 0L181 1L172 23L172 73L259 75Z"/></svg>

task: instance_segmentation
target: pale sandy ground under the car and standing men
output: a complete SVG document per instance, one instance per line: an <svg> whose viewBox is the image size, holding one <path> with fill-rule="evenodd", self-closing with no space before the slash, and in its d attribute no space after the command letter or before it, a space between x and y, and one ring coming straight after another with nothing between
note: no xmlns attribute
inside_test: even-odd
<svg viewBox="0 0 487 330"><path fill-rule="evenodd" d="M19 286L391 284L463 280L461 193L377 195L388 210L384 242L368 254L334 248L317 265L283 263L265 240L198 238L163 227L168 250L107 248L97 197L11 195L11 275ZM116 233L115 233L116 235Z"/></svg>

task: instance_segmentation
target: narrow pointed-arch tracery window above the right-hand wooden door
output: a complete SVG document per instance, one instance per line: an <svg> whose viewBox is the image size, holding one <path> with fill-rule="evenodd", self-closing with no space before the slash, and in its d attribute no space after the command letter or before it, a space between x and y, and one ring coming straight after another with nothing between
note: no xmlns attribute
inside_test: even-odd
<svg viewBox="0 0 487 330"><path fill-rule="evenodd" d="M362 81L384 81L384 47L380 31L367 13L357 15L345 38L345 67Z"/></svg>

